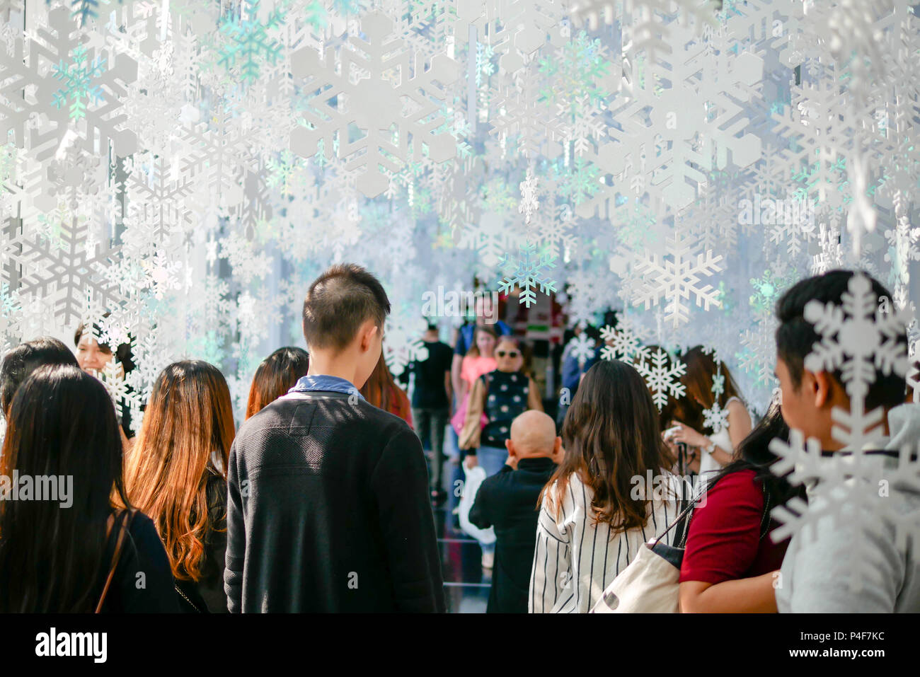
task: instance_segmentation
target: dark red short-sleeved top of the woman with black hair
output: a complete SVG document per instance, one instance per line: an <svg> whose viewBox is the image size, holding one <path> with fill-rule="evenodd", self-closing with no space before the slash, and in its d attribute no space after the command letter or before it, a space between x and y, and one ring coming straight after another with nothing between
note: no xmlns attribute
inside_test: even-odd
<svg viewBox="0 0 920 677"><path fill-rule="evenodd" d="M719 479L707 493L706 505L690 519L681 582L721 583L776 571L783 563L788 539L774 544L760 538L764 493L753 470L740 470ZM770 530L776 523L770 522Z"/></svg>

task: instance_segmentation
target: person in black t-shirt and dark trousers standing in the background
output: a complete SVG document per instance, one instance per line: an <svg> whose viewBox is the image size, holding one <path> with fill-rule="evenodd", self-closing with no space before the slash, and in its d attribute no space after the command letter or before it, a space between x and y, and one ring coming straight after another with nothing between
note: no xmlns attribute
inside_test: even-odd
<svg viewBox="0 0 920 677"><path fill-rule="evenodd" d="M438 327L429 325L422 337L428 357L415 360L405 373L415 373L412 393L412 420L422 444L431 442L431 499L442 502L444 430L450 419L451 361L454 351L438 339Z"/></svg>

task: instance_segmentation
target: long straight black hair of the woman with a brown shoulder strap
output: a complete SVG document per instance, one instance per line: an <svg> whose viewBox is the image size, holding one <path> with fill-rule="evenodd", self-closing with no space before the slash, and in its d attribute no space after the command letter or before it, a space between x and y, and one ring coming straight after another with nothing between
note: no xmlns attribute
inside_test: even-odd
<svg viewBox="0 0 920 677"><path fill-rule="evenodd" d="M92 611L112 498L129 506L121 436L109 393L76 366L40 367L9 411L0 476L65 477L57 500L0 500L0 612ZM60 489L59 489L60 497Z"/></svg>

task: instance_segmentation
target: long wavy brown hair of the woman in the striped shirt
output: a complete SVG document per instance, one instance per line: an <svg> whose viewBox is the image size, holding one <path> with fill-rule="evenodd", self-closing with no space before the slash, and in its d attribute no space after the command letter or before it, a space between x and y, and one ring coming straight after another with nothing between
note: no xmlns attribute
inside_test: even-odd
<svg viewBox="0 0 920 677"><path fill-rule="evenodd" d="M592 488L595 522L616 532L645 526L649 499L632 499L633 478L661 475L673 466L661 440L658 411L639 373L626 362L602 360L592 366L575 392L562 423L565 458L541 492L557 505L577 473ZM555 482L558 485L553 491Z"/></svg>

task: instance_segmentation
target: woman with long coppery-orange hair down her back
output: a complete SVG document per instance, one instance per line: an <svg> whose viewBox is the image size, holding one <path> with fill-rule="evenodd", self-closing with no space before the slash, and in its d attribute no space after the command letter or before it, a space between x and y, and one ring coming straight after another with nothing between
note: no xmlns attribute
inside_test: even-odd
<svg viewBox="0 0 920 677"><path fill-rule="evenodd" d="M217 367L178 361L156 379L125 469L134 506L156 525L186 612L226 612L226 468L236 430Z"/></svg>

